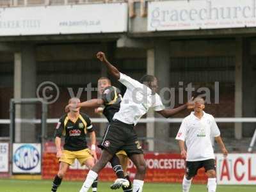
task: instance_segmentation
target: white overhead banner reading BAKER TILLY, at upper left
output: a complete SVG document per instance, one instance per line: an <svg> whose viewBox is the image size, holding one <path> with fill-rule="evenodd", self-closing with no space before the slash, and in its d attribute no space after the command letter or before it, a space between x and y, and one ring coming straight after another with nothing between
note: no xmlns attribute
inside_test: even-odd
<svg viewBox="0 0 256 192"><path fill-rule="evenodd" d="M127 31L127 3L0 8L0 36Z"/></svg>

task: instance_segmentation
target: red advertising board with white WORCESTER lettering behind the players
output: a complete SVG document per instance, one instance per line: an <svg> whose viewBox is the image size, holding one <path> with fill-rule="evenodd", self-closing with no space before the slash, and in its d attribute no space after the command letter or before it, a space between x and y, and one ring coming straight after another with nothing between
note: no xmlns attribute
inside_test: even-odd
<svg viewBox="0 0 256 192"><path fill-rule="evenodd" d="M179 154L158 154L147 153L145 154L145 160L147 162L147 175L146 182L182 182L185 171L185 160L180 157ZM52 145L45 146L45 153L42 161L42 177L43 179L53 179L58 172L59 164ZM130 161L128 168L131 179L134 178L136 168ZM68 173L65 175L67 180L84 180L88 169L85 166L80 166L76 161ZM110 164L100 172L99 179L102 181L113 181L116 176L111 168ZM194 183L206 183L207 177L204 170L199 170L196 175Z"/></svg>

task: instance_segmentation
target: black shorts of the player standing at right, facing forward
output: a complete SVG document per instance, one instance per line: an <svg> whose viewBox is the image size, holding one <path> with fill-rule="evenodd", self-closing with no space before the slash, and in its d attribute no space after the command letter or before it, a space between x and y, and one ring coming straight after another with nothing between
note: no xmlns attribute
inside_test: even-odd
<svg viewBox="0 0 256 192"><path fill-rule="evenodd" d="M205 172L208 170L216 170L215 160L207 159L204 161L186 161L186 174L188 177L194 177L197 171L204 167Z"/></svg>

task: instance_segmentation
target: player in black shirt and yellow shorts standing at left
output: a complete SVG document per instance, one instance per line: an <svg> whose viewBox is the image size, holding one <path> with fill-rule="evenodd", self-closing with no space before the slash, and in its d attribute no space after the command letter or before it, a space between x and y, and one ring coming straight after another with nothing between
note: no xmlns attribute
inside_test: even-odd
<svg viewBox="0 0 256 192"><path fill-rule="evenodd" d="M76 104L80 100L72 98L68 103ZM92 147L87 146L86 134L90 134ZM61 149L61 136L65 136L63 150ZM95 152L96 136L90 117L79 112L79 108L71 109L69 113L61 116L55 131L55 144L60 169L52 183L52 192L56 192L61 184L68 167L77 159L81 165L92 168L97 159ZM97 179L93 182L92 191L97 191Z"/></svg>

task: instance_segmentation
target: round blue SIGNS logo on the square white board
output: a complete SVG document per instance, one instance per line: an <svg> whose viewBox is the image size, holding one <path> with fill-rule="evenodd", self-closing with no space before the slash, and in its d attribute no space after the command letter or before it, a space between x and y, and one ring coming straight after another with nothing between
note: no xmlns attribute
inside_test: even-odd
<svg viewBox="0 0 256 192"><path fill-rule="evenodd" d="M33 145L22 145L15 151L13 161L20 170L33 170L40 161L40 153Z"/></svg>

